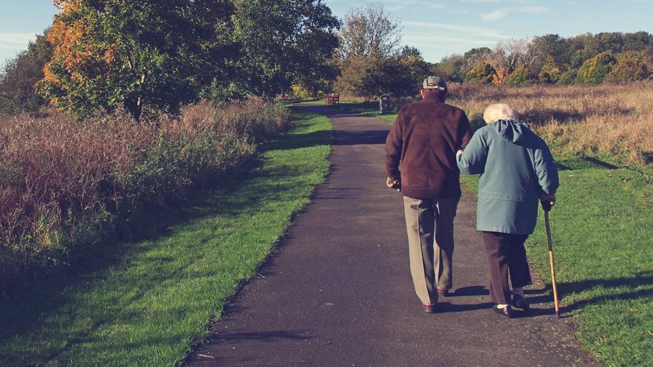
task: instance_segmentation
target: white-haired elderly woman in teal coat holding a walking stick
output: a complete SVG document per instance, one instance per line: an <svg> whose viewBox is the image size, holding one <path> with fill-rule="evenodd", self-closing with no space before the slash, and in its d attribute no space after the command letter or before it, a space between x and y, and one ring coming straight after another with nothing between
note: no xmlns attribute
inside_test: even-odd
<svg viewBox="0 0 653 367"><path fill-rule="evenodd" d="M456 159L460 172L481 174L476 229L483 234L490 296L496 303L492 309L511 317L511 305L529 309L524 285L532 281L524 242L535 229L538 199L545 210L555 201L558 170L547 144L517 120L510 106L491 104L483 119L487 125L474 133L464 152L458 150Z"/></svg>

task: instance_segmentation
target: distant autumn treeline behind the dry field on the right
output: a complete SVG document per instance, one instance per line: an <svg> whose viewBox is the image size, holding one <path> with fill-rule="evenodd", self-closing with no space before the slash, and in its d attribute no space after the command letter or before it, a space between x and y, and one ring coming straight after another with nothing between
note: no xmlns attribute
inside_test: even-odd
<svg viewBox="0 0 653 367"><path fill-rule="evenodd" d="M493 50L474 48L445 57L433 70L454 82L513 86L634 82L653 76L653 35L641 31L510 39Z"/></svg>

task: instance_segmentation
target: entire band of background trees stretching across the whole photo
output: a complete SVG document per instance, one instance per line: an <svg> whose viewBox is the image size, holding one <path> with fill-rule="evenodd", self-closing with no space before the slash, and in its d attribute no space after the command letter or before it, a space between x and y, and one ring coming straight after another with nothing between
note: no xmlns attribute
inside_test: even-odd
<svg viewBox="0 0 653 367"><path fill-rule="evenodd" d="M48 104L79 118L116 108L151 118L201 99L415 95L426 74L522 86L624 83L653 70L645 31L509 39L428 63L399 47L400 21L381 3L342 20L317 0L56 4L52 27L0 71L0 114Z"/></svg>

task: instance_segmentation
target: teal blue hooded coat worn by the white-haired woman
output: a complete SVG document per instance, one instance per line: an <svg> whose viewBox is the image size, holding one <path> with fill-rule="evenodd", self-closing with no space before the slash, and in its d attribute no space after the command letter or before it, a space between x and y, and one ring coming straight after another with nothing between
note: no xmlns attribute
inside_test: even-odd
<svg viewBox="0 0 653 367"><path fill-rule="evenodd" d="M481 127L457 159L479 178L476 229L531 234L539 196L555 194L558 169L547 144L528 125L498 120Z"/></svg>

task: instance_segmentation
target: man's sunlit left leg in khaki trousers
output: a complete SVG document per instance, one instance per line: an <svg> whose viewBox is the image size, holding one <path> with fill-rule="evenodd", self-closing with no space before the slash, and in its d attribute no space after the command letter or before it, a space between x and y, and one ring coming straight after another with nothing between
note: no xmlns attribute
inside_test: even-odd
<svg viewBox="0 0 653 367"><path fill-rule="evenodd" d="M422 304L438 302L433 266L434 213L432 200L404 197L411 276Z"/></svg>

